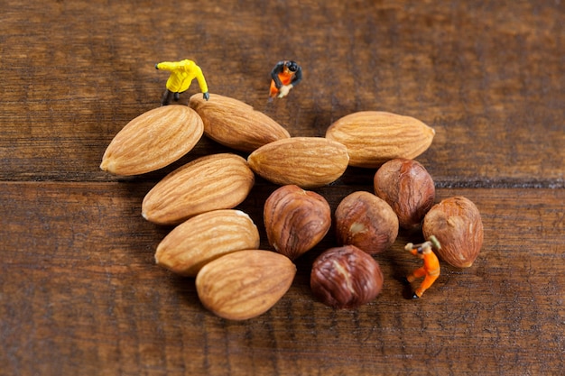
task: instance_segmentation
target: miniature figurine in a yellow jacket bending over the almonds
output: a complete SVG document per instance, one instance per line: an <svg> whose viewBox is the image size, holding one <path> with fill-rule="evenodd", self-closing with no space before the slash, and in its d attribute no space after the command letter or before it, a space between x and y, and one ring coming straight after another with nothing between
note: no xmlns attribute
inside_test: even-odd
<svg viewBox="0 0 565 376"><path fill-rule="evenodd" d="M181 93L189 89L190 83L192 83L194 78L199 82L200 91L202 91L204 99L209 99L210 95L208 94L206 79L202 74L202 69L194 61L163 61L155 64L155 69L169 70L171 72L171 76L165 85L167 88L162 95L162 105L169 105L171 103L171 96L173 96L175 101L178 101Z"/></svg>

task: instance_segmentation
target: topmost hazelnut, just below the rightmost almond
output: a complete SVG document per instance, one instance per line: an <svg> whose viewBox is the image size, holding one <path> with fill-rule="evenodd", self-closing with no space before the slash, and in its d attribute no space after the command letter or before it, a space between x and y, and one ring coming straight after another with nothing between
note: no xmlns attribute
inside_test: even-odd
<svg viewBox="0 0 565 376"><path fill-rule="evenodd" d="M394 159L375 173L375 195L390 205L401 227L421 225L435 199L436 191L428 171L416 160Z"/></svg>

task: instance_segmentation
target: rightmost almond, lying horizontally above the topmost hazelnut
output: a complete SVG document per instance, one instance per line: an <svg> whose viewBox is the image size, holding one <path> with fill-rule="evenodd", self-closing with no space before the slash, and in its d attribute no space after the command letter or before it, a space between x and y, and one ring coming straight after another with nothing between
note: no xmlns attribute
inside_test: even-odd
<svg viewBox="0 0 565 376"><path fill-rule="evenodd" d="M330 140L347 147L349 165L377 168L387 160L412 160L426 151L435 131L410 116L361 111L343 116L326 131Z"/></svg>

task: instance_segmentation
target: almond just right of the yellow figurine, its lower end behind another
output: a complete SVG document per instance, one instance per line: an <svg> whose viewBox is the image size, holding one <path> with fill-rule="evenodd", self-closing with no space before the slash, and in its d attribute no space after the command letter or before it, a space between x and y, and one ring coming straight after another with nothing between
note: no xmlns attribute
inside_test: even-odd
<svg viewBox="0 0 565 376"><path fill-rule="evenodd" d="M190 96L190 107L199 113L204 133L212 140L238 151L251 152L273 142L291 137L272 118L228 96L201 94Z"/></svg>

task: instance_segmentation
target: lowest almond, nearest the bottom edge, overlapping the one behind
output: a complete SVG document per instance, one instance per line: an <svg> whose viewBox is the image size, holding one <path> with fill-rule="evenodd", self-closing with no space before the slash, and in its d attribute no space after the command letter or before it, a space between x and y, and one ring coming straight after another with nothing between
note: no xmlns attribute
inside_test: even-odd
<svg viewBox="0 0 565 376"><path fill-rule="evenodd" d="M206 264L196 277L199 299L208 310L229 320L264 314L290 289L296 266L277 252L228 253Z"/></svg>

